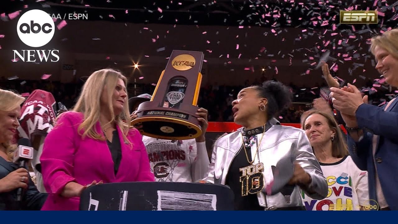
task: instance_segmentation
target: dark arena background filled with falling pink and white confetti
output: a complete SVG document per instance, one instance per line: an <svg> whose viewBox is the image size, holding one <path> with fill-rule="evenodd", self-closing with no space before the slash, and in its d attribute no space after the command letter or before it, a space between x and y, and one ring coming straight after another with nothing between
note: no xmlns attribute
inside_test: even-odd
<svg viewBox="0 0 398 224"><path fill-rule="evenodd" d="M18 20L34 9L55 24L40 47L17 32ZM377 10L377 23L341 23L341 10ZM173 50L201 51L197 106L208 110L210 157L219 136L240 128L232 101L248 86L287 85L293 102L275 118L300 128L300 116L328 89L321 61L369 104L395 98L398 90L375 69L369 47L372 37L398 28L397 11L397 0L1 0L0 88L25 98L45 90L70 110L88 77L112 68L127 77L129 98L152 95ZM55 105L56 113L62 108Z"/></svg>

